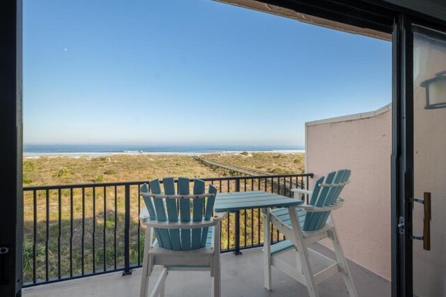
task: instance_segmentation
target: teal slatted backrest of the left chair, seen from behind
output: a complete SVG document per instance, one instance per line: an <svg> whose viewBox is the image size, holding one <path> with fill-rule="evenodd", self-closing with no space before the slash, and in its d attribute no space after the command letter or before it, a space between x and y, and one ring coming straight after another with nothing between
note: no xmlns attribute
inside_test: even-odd
<svg viewBox="0 0 446 297"><path fill-rule="evenodd" d="M193 193L190 195L190 180L178 178L178 192L175 191L174 178L162 179L164 194L160 180L153 179L141 186L140 193L148 209L150 220L158 222L190 222L210 220L217 188L210 185L205 193L205 184L201 179L194 179ZM192 203L191 203L192 200ZM208 239L208 227L194 229L161 229L154 228L158 246L168 250L197 250L204 248Z"/></svg>

